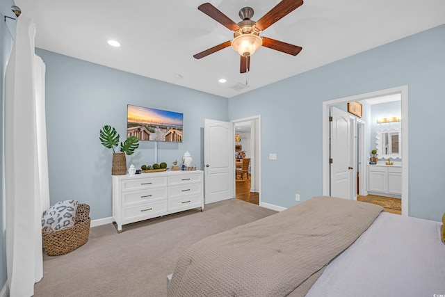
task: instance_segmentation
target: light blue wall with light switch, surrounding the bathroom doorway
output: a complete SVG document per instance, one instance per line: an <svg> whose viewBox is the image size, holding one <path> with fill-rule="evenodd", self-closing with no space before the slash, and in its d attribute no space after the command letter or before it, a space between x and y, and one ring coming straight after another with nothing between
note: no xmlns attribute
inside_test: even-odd
<svg viewBox="0 0 445 297"><path fill-rule="evenodd" d="M407 85L410 216L440 220L445 159L424 152L445 147L444 49L442 25L229 99L231 120L261 115L262 201L291 207L296 193L321 195L322 102Z"/></svg>

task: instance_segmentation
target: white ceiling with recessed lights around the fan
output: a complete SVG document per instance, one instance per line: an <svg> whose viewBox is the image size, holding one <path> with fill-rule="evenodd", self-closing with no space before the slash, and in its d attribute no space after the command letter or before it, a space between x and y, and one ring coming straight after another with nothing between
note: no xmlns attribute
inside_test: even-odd
<svg viewBox="0 0 445 297"><path fill-rule="evenodd" d="M197 10L197 0L15 0L34 19L35 46L144 77L223 97L266 86L341 58L445 23L444 0L306 0L261 32L303 49L297 56L261 47L250 72L239 73L230 47L196 60L193 54L233 33ZM259 19L278 0L210 1L239 22L238 10ZM12 12L11 12L12 13ZM108 39L122 47L110 47ZM219 83L218 79L227 79ZM233 90L232 86L248 88Z"/></svg>

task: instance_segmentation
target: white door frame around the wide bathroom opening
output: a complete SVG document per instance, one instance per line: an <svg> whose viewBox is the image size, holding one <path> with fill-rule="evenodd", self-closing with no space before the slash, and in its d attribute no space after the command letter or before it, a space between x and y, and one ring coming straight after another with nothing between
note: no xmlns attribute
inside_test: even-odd
<svg viewBox="0 0 445 297"><path fill-rule="evenodd" d="M409 159L408 159L408 86L399 86L371 93L364 93L324 101L322 104L322 167L323 167L323 195L329 195L329 107L341 103L361 101L374 97L401 94L401 125L402 125L402 216L410 214L409 209Z"/></svg>

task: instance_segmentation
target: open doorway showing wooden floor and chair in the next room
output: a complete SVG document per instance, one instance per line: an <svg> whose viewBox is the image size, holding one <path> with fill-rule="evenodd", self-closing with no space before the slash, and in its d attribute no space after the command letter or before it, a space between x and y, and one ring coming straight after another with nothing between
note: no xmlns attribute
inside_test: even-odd
<svg viewBox="0 0 445 297"><path fill-rule="evenodd" d="M235 198L261 205L260 117L233 120Z"/></svg>

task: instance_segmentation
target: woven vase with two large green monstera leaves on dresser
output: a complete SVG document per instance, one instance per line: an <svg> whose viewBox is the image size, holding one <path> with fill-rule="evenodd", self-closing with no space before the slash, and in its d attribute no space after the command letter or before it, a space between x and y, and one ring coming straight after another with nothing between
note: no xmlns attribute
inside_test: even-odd
<svg viewBox="0 0 445 297"><path fill-rule="evenodd" d="M124 143L120 143L120 153L115 152L114 147L119 144L119 134L111 126L105 125L99 131L99 140L106 148L113 149L112 175L125 175L127 173L127 159L125 154L131 155L139 147L139 140L136 136L129 136Z"/></svg>

